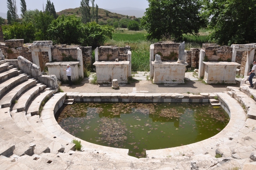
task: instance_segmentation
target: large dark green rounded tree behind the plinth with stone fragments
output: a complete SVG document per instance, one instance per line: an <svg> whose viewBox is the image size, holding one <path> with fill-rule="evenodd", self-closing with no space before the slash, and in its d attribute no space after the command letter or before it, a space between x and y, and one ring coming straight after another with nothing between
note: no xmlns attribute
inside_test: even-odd
<svg viewBox="0 0 256 170"><path fill-rule="evenodd" d="M169 34L181 40L183 34L197 34L205 20L199 17L200 0L148 0L149 6L141 20L149 39Z"/></svg>

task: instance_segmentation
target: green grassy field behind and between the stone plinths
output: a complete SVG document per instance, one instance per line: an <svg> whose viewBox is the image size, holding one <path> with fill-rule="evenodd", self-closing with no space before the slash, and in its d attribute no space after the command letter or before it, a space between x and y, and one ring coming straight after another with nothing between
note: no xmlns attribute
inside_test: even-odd
<svg viewBox="0 0 256 170"><path fill-rule="evenodd" d="M186 50L190 48L201 48L202 43L208 43L208 35L210 30L202 29L198 36L184 35ZM147 40L147 32L130 31L127 29L116 30L113 38L105 42L105 46L131 46L131 69L133 72L149 71L149 51L150 45L156 43L157 40Z"/></svg>

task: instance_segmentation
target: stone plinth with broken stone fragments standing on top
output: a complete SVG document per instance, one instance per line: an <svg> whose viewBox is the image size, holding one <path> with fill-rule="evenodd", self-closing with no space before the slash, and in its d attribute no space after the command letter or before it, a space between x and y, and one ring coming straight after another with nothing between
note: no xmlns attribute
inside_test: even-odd
<svg viewBox="0 0 256 170"><path fill-rule="evenodd" d="M184 83L186 66L188 63L177 63L177 61L155 63L151 61L154 67L154 84L182 84Z"/></svg>

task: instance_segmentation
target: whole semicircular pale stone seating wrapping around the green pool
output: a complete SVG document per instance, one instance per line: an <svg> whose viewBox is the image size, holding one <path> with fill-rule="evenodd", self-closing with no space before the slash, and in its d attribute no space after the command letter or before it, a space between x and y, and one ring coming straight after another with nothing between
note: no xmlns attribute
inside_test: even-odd
<svg viewBox="0 0 256 170"><path fill-rule="evenodd" d="M216 94L230 115L224 130L195 144L147 150L147 158L138 159L128 156L126 149L91 144L67 133L54 117L67 93L56 93L6 61L0 61L0 165L24 170L193 167L218 170L220 166L253 166L250 156L256 146L256 92L245 85L227 87L227 92ZM74 151L73 139L81 141L83 152ZM216 153L222 157L215 158Z"/></svg>

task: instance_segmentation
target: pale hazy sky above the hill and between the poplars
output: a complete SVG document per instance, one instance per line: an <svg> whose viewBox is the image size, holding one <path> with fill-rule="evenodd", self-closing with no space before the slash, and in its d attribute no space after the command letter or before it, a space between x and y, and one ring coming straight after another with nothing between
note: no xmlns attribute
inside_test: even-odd
<svg viewBox="0 0 256 170"><path fill-rule="evenodd" d="M78 8L81 0L50 0L55 7L56 12L60 12L63 9ZM25 0L26 7L29 10L38 9L43 10L43 4L47 0ZM102 9L116 9L122 7L134 7L138 9L148 8L147 0L95 0L94 4L98 5ZM20 14L20 0L16 0L17 13ZM90 3L91 6L91 3ZM7 12L7 0L0 0L0 12Z"/></svg>

